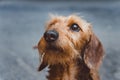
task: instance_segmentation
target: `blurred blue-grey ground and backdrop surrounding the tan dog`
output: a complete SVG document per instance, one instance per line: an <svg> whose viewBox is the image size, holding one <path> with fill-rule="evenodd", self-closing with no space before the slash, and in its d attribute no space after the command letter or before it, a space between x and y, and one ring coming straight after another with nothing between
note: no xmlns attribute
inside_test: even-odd
<svg viewBox="0 0 120 80"><path fill-rule="evenodd" d="M0 0L0 80L45 80L32 47L49 13L77 13L90 22L106 52L101 79L120 80L120 0Z"/></svg>

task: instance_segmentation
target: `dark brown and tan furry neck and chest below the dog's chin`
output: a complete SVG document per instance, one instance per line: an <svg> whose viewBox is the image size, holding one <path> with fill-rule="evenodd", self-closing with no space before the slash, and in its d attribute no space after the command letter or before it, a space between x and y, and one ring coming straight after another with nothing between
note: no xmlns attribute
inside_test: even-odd
<svg viewBox="0 0 120 80"><path fill-rule="evenodd" d="M99 80L93 79L90 69L80 59L66 64L49 66L48 80Z"/></svg>

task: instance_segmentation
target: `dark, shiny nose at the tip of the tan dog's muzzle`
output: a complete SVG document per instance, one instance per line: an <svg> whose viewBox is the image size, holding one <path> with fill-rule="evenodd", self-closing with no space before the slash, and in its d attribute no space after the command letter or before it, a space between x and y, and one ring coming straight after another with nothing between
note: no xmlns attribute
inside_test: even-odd
<svg viewBox="0 0 120 80"><path fill-rule="evenodd" d="M44 38L47 42L54 42L58 39L58 32L55 30L49 30L44 33Z"/></svg>

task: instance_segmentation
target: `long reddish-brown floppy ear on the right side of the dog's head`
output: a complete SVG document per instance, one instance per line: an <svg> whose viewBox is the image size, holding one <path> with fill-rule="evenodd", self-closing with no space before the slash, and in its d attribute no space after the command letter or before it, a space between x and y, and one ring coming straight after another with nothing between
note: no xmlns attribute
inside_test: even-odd
<svg viewBox="0 0 120 80"><path fill-rule="evenodd" d="M98 69L103 56L103 46L95 34L92 33L89 41L85 45L84 62L90 69Z"/></svg>

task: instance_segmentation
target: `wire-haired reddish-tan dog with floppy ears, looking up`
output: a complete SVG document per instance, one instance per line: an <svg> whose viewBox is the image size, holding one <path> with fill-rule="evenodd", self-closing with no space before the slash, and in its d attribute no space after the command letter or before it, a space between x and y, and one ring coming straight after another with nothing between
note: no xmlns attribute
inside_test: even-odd
<svg viewBox="0 0 120 80"><path fill-rule="evenodd" d="M77 15L52 15L38 45L41 64L48 67L48 80L100 80L104 56L92 26Z"/></svg>

